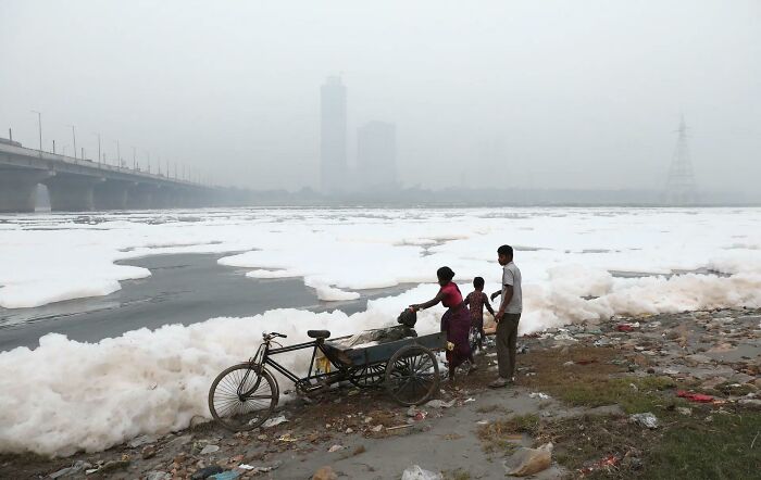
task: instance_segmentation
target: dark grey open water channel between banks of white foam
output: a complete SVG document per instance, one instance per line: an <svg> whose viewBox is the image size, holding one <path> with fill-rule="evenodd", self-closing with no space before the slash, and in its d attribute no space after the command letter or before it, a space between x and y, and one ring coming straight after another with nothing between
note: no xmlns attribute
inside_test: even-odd
<svg viewBox="0 0 761 480"><path fill-rule="evenodd" d="M124 262L151 270L151 276L122 282L105 296L59 302L36 308L0 308L0 351L35 348L41 336L63 333L97 342L104 338L166 324L190 325L213 317L240 317L272 308L312 312L363 311L367 300L398 294L410 286L366 290L347 302L322 302L301 278L252 279L246 269L221 266L228 254L154 255Z"/></svg>

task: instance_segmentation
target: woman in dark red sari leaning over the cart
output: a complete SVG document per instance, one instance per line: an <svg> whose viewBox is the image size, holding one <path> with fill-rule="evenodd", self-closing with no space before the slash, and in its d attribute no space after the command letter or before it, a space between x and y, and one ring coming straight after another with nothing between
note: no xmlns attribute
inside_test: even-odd
<svg viewBox="0 0 761 480"><path fill-rule="evenodd" d="M441 267L436 271L438 285L441 289L433 300L425 303L410 305L413 312L429 308L439 302L446 306L447 312L441 317L441 331L447 332L447 362L449 364L449 380L454 380L454 369L465 361L471 361L471 369L475 369L471 355L471 345L467 334L471 330L471 315L467 306L462 301L460 288L452 281L454 271L449 267ZM450 345L450 344L453 344Z"/></svg>

